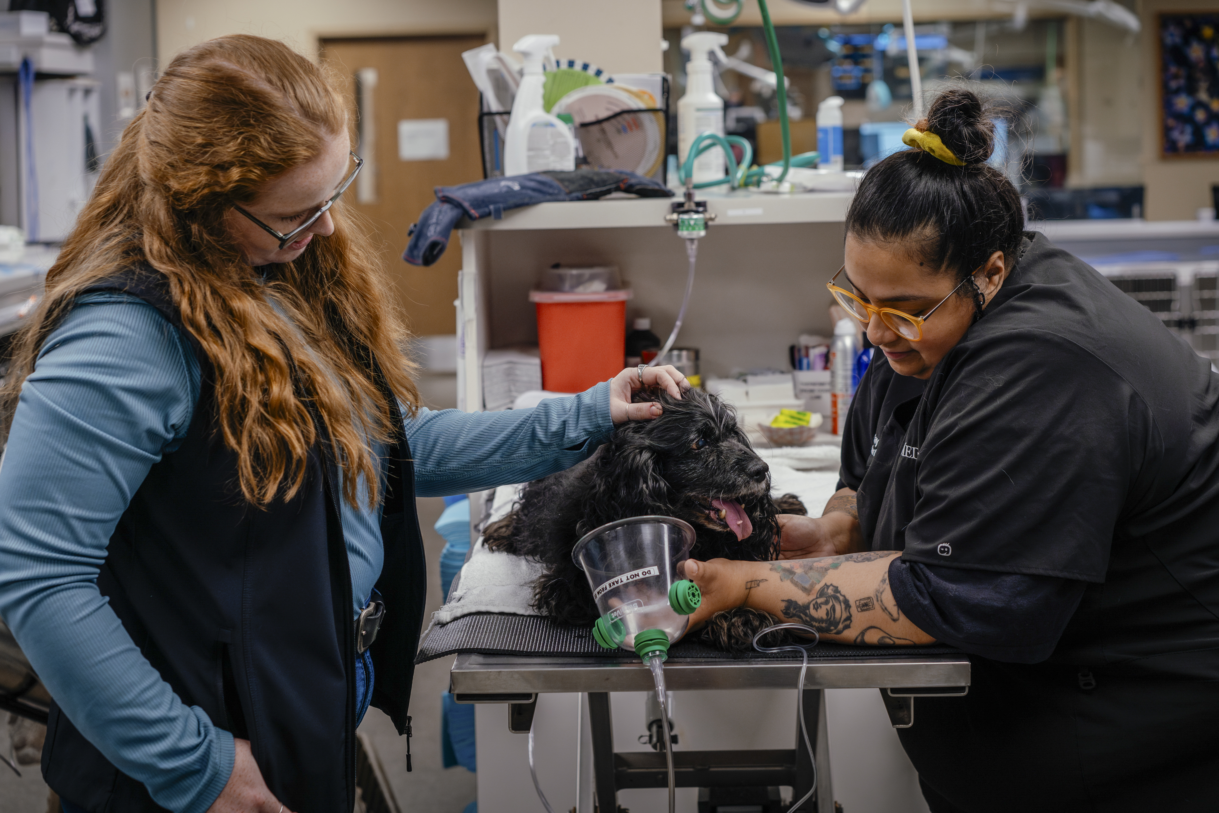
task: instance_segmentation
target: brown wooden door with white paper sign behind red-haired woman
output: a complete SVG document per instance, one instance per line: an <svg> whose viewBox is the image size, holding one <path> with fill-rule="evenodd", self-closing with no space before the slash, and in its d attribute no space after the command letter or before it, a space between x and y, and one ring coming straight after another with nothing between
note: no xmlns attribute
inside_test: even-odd
<svg viewBox="0 0 1219 813"><path fill-rule="evenodd" d="M485 41L482 35L322 40L322 59L350 78L357 106L368 107L361 110L363 122L371 123L367 130L361 130L364 144L356 146L356 152L369 161L361 174L369 174L371 180L361 178L345 199L364 213L377 230L382 262L397 285L402 308L416 335L456 330L452 304L457 297L457 271L461 268L461 245L456 235L433 266L407 264L402 250L411 224L435 200L434 186L483 178L478 90L461 54ZM371 74L369 68L375 73ZM447 122L449 157L401 160L400 122L407 122L410 132L419 132L422 127L424 134L433 138L439 122ZM416 129L411 130L412 127ZM419 155L418 150L413 154ZM369 168L372 173L367 172ZM361 182L363 185L357 188Z"/></svg>

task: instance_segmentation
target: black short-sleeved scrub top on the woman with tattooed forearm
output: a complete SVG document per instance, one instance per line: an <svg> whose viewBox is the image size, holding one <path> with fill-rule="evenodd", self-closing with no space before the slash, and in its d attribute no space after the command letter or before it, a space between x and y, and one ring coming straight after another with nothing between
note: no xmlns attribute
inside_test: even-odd
<svg viewBox="0 0 1219 813"><path fill-rule="evenodd" d="M878 353L840 488L872 550L903 562L1087 583L1048 631L1051 663L1219 679L1219 375L1103 275L1026 238L925 384Z"/></svg>

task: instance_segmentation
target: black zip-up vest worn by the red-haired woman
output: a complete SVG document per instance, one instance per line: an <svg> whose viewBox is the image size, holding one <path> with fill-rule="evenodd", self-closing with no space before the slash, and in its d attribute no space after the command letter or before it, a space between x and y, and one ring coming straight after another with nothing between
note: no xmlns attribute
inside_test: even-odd
<svg viewBox="0 0 1219 813"><path fill-rule="evenodd" d="M133 269L90 289L134 295L182 328L168 280ZM188 338L190 334L183 332ZM236 456L218 436L215 377L202 371L185 440L149 472L110 539L98 586L135 645L188 706L249 739L271 792L297 813L350 813L355 803L355 624L339 513L339 472L319 440L304 488L267 508L236 488ZM375 361L379 385L388 386ZM401 427L397 401L395 425ZM427 592L414 472L402 431L390 447L377 589L385 620L373 644L373 706L399 733ZM90 813L160 811L51 707L43 775Z"/></svg>

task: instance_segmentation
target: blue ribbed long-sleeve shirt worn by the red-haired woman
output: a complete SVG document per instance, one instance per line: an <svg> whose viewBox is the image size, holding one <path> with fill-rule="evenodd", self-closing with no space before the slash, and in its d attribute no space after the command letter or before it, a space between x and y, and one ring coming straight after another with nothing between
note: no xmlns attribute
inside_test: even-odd
<svg viewBox="0 0 1219 813"><path fill-rule="evenodd" d="M233 736L161 679L96 583L119 517L185 438L199 392L189 343L154 307L83 297L22 388L0 464L0 616L73 725L158 804L187 813L223 790ZM612 429L606 384L535 410L421 410L406 422L416 494L544 477ZM379 509L344 502L343 529L362 603L382 569Z"/></svg>

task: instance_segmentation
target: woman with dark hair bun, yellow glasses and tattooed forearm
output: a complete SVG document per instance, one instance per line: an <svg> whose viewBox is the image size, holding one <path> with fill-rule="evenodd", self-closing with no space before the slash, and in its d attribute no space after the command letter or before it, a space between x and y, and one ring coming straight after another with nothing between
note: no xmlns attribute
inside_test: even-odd
<svg viewBox="0 0 1219 813"><path fill-rule="evenodd" d="M1219 374L1024 232L992 133L947 90L864 177L830 289L880 352L840 490L780 518L794 561L694 563L695 622L969 653L968 695L900 731L933 813L1210 811Z"/></svg>

